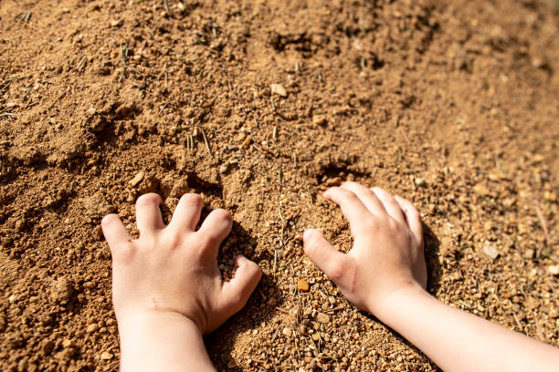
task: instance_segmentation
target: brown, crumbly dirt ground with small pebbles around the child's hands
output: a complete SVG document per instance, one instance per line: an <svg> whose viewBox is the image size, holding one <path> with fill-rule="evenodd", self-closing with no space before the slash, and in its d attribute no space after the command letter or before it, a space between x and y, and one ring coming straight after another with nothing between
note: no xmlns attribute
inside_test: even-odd
<svg viewBox="0 0 559 372"><path fill-rule="evenodd" d="M3 0L0 369L116 369L100 219L133 232L143 192L168 217L195 191L234 216L224 273L264 272L207 337L219 370L437 370L302 254L306 227L351 247L321 196L343 180L417 205L440 301L557 345L558 21L535 0Z"/></svg>

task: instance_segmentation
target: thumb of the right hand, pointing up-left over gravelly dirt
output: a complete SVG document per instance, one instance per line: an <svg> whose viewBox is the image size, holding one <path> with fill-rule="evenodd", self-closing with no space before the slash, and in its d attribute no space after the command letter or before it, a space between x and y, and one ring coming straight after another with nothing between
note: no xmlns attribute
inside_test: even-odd
<svg viewBox="0 0 559 372"><path fill-rule="evenodd" d="M332 247L332 244L324 239L324 235L315 229L303 233L303 247L305 254L324 274L335 284L341 284L345 274L345 262L349 259L346 254Z"/></svg>

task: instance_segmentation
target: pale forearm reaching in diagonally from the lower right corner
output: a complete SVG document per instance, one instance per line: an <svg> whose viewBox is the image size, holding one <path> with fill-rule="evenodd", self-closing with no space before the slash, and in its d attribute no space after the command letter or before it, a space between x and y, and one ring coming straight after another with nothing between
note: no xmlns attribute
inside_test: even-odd
<svg viewBox="0 0 559 372"><path fill-rule="evenodd" d="M438 302L420 288L397 291L378 315L445 371L552 371L559 349Z"/></svg>

